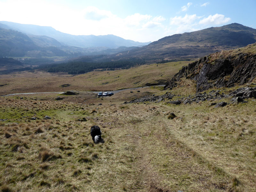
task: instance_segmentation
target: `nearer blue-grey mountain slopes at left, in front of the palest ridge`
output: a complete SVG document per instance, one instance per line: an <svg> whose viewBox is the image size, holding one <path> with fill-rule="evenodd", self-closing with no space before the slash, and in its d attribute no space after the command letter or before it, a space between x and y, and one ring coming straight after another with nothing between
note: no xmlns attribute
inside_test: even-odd
<svg viewBox="0 0 256 192"><path fill-rule="evenodd" d="M4 27L4 28L1 28ZM78 57L82 55L113 54L116 52L131 50L137 47L118 47L109 49L108 47L81 48L61 44L56 39L49 36L39 36L24 34L7 25L0 23L0 57ZM106 51L103 51L106 50ZM100 52L103 51L103 52ZM49 60L49 62L54 62Z"/></svg>

